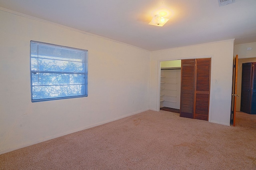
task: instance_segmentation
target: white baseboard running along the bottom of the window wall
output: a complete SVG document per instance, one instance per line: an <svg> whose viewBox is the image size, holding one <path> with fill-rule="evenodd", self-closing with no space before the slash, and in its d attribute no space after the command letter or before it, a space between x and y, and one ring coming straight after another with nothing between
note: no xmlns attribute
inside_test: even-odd
<svg viewBox="0 0 256 170"><path fill-rule="evenodd" d="M61 133L61 134L56 134L54 136L48 136L46 138L42 138L40 140L35 140L35 141L32 141L32 142L28 142L28 143L24 143L24 144L21 144L20 146L18 147L15 147L15 148L9 148L9 149L5 149L5 150L0 150L0 154L4 154L4 153L7 153L7 152L11 152L13 150L17 150L17 149L20 149L20 148L24 148L24 147L27 147L27 146L31 146L33 144L38 144L38 143L41 143L41 142L45 142L47 140L51 140L51 139L54 139L54 138L58 138L60 136L64 136L64 135L67 135L67 134L71 134L71 133L74 133L74 132L78 132L78 131L81 131L81 130L85 130L85 129L88 129L88 128L92 128L92 127L96 127L96 126L99 126L99 125L103 125L105 123L109 123L109 122L112 122L112 121L116 121L116 120L119 120L119 119L122 119L122 118L125 118L125 117L129 117L129 116L132 116L132 115L136 115L138 113L142 113L144 111L148 111L149 109L144 109L144 110L141 110L141 111L136 111L134 113L130 113L130 114L127 114L127 115L124 115L124 116L120 116L120 117L116 117L114 119L110 119L110 120L107 120L107 121L103 121L103 122L100 122L100 123L96 123L96 124L93 124L93 125L89 125L89 126L86 126L86 127L82 127L82 128L77 128L77 129L74 129L74 130L70 130L70 131L67 131L67 132L64 132L64 133Z"/></svg>

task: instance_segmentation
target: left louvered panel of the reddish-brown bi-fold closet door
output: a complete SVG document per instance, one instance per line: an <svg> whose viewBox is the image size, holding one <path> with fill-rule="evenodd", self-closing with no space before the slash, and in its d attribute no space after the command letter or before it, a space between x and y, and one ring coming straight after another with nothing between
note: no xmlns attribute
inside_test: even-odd
<svg viewBox="0 0 256 170"><path fill-rule="evenodd" d="M180 117L193 118L195 59L181 60Z"/></svg>

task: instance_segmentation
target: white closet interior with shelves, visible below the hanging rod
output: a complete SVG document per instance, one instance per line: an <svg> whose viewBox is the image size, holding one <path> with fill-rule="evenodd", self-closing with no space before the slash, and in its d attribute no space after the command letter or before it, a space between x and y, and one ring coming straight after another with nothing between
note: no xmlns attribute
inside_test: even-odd
<svg viewBox="0 0 256 170"><path fill-rule="evenodd" d="M161 69L160 107L180 109L180 68Z"/></svg>

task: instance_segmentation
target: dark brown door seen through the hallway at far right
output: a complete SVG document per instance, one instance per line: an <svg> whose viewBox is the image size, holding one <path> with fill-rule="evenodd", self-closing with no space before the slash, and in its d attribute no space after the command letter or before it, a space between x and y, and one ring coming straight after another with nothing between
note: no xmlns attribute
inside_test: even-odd
<svg viewBox="0 0 256 170"><path fill-rule="evenodd" d="M256 63L243 63L241 111L256 114Z"/></svg>

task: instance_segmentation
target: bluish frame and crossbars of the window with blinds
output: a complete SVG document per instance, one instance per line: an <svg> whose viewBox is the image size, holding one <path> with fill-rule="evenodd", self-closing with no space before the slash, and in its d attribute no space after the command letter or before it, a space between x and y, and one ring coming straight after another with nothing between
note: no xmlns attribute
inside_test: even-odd
<svg viewBox="0 0 256 170"><path fill-rule="evenodd" d="M39 69L37 71L34 71L34 70L32 71L32 44L33 43L42 44L42 45L49 45L50 47L56 47L56 48L62 48L62 49L72 49L72 50L75 50L75 51L84 52L84 63L82 64L82 69L84 69L84 73L83 72L75 72L75 71L65 72L65 71L61 71L61 70L50 71L53 74L59 74L59 75L67 75L67 74L68 75L72 75L72 74L84 75L84 88L81 87L81 90L83 91L82 95L69 95L69 96L64 96L64 97L50 97L50 94L49 94L48 98L43 98L42 97L40 99L33 99L33 87L35 87L36 85L33 85L32 75L49 72L49 71L40 71ZM37 49L37 51L38 51L38 49ZM46 55L46 54L44 54L44 55ZM56 58L57 56L53 55L51 57ZM38 63L38 59L37 59L37 63ZM71 60L69 60L69 63L71 63ZM57 69L57 67L54 67L54 69ZM48 77L50 77L50 75ZM69 83L70 83L70 81L69 81ZM71 85L71 83L66 84L66 85L60 85L60 86L68 86L68 85ZM76 85L79 85L79 84L76 84ZM80 85L82 86L83 84L80 84ZM42 85L42 87L46 87L46 86L47 85ZM52 86L55 86L55 85L52 85ZM51 44L51 43L37 42L37 41L31 40L30 41L30 90L31 90L31 102L52 101L52 100L60 100L60 99L88 97L88 50L78 49L78 48L74 48L74 47L66 47L66 46L56 45L56 44ZM68 90L66 92L68 92Z"/></svg>

